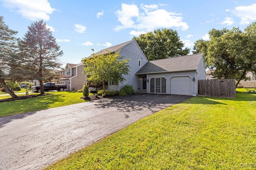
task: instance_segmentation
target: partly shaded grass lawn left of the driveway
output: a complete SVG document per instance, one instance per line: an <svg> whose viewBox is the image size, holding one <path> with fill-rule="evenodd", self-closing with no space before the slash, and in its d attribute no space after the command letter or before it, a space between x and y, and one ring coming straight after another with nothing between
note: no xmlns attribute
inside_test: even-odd
<svg viewBox="0 0 256 170"><path fill-rule="evenodd" d="M36 98L29 98L12 102L0 102L0 117L86 102L86 100L80 99L80 97L83 96L82 93L74 93L69 91L46 93L51 93L53 95L38 96ZM17 96L21 95L24 94L19 94ZM0 96L0 99L4 98L10 98L10 95ZM46 104L46 102L48 104Z"/></svg>

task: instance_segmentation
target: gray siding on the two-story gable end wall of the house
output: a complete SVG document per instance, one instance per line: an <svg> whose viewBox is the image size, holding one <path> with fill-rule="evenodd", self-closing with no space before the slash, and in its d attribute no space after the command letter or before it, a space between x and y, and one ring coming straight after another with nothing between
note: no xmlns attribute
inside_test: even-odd
<svg viewBox="0 0 256 170"><path fill-rule="evenodd" d="M140 50L140 47L136 43L136 41L132 41L128 45L124 46L120 50L120 56L123 56L124 59L130 59L128 62L129 73L128 75L123 75L126 79L124 82L118 82L118 86L106 86L106 89L109 91L115 91L115 90L122 90L122 88L125 85L132 85L133 89L135 91L138 91L138 88L140 88L140 76L135 75L135 73L140 70L144 64L148 62L142 51ZM138 62L141 61L141 66L139 66Z"/></svg>

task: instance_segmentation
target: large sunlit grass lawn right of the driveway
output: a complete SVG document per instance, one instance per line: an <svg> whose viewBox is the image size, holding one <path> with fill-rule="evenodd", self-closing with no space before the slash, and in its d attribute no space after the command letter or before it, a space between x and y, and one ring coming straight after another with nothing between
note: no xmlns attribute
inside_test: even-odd
<svg viewBox="0 0 256 170"><path fill-rule="evenodd" d="M163 109L45 169L255 169L256 94L238 91Z"/></svg>

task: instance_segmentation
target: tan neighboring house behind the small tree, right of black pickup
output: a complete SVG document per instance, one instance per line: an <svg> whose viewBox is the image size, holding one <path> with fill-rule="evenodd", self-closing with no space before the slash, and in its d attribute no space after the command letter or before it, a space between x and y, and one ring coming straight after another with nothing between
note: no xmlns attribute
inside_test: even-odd
<svg viewBox="0 0 256 170"><path fill-rule="evenodd" d="M66 64L64 76L59 78L59 84L66 84L67 91L80 90L85 81L84 64Z"/></svg>

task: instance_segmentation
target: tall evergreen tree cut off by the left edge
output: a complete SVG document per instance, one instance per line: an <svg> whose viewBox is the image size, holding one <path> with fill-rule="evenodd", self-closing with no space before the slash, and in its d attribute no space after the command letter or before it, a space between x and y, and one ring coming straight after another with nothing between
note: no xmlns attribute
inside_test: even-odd
<svg viewBox="0 0 256 170"><path fill-rule="evenodd" d="M9 29L4 23L4 18L0 16L0 84L12 98L17 98L16 94L6 85L5 80L15 81L22 76L21 57L18 54L17 39L14 37L18 32Z"/></svg>

